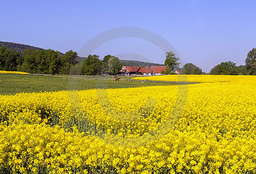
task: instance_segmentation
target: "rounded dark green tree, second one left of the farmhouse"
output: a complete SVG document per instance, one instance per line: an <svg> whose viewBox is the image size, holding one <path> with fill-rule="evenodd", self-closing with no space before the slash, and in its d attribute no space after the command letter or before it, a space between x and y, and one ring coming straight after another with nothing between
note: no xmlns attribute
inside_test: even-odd
<svg viewBox="0 0 256 174"><path fill-rule="evenodd" d="M82 62L81 75L100 75L101 66L100 57L96 54L89 54L88 58Z"/></svg>

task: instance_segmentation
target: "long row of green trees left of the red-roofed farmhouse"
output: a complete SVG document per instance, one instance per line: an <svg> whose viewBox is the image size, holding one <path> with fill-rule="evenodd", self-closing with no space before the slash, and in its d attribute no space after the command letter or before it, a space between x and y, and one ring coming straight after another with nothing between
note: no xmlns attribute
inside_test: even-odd
<svg viewBox="0 0 256 174"><path fill-rule="evenodd" d="M26 49L21 54L12 48L0 46L0 70L23 71L31 74L115 75L123 64L119 58L107 55L101 61L96 54L82 61L77 52L64 55L58 51Z"/></svg>

